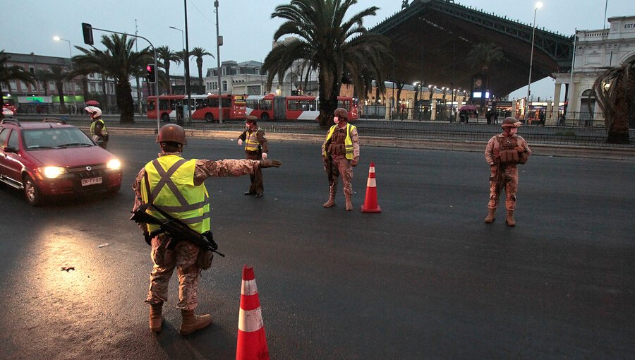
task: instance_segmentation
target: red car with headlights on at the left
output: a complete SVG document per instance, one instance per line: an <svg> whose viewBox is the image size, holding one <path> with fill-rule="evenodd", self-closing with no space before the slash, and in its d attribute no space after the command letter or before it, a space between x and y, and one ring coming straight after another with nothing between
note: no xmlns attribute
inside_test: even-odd
<svg viewBox="0 0 635 360"><path fill-rule="evenodd" d="M121 188L121 162L61 119L0 122L0 181L40 205L49 196Z"/></svg>

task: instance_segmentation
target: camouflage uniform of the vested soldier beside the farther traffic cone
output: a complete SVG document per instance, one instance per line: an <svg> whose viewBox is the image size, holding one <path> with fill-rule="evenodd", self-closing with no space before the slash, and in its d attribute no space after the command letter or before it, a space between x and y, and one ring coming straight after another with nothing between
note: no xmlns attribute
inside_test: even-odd
<svg viewBox="0 0 635 360"><path fill-rule="evenodd" d="M335 196L337 193L337 181L341 175L344 182L344 196L353 195L353 166L352 162L359 159L359 136L357 128L351 127L351 140L353 141L353 160L346 159L344 139L346 138L346 126L337 127L331 138L322 144L322 154L325 153L332 160L332 166L327 167L329 177L329 194Z"/></svg>

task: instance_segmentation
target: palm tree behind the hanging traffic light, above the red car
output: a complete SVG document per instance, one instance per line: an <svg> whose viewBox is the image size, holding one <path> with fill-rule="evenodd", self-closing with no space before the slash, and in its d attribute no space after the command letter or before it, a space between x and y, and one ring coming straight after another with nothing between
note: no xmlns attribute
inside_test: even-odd
<svg viewBox="0 0 635 360"><path fill-rule="evenodd" d="M74 56L73 60L78 66L98 68L102 77L114 79L117 108L121 113L119 120L122 123L134 122L135 109L130 80L145 73L145 64L152 61L152 53L148 47L140 52L133 52L135 40L128 39L127 35L103 35L102 44L106 47L105 51L77 47L83 55Z"/></svg>

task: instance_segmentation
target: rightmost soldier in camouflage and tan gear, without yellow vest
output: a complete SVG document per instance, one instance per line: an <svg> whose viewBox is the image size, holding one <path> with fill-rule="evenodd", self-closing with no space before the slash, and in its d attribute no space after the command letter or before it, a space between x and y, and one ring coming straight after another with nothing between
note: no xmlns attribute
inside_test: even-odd
<svg viewBox="0 0 635 360"><path fill-rule="evenodd" d="M492 136L485 148L485 160L490 164L490 201L489 213L485 223L494 222L500 192L505 188L505 208L507 217L505 222L510 227L516 225L514 210L516 209L516 191L518 190L517 164L527 162L531 149L521 136L516 135L521 122L513 117L502 121L502 133Z"/></svg>

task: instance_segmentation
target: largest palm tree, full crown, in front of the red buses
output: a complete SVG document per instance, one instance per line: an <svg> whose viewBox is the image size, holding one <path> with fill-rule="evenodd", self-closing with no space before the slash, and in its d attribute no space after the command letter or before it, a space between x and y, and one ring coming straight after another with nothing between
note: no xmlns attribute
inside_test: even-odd
<svg viewBox="0 0 635 360"><path fill-rule="evenodd" d="M386 37L368 32L363 18L375 15L377 6L366 8L344 20L346 11L356 0L291 0L279 5L272 18L286 20L274 34L274 41L295 35L267 54L263 71L267 71L267 88L275 76L279 81L295 61L308 61L307 71L319 71L320 126L332 124L337 95L344 76L361 97L365 97L375 80L382 92L385 63L392 60Z"/></svg>

